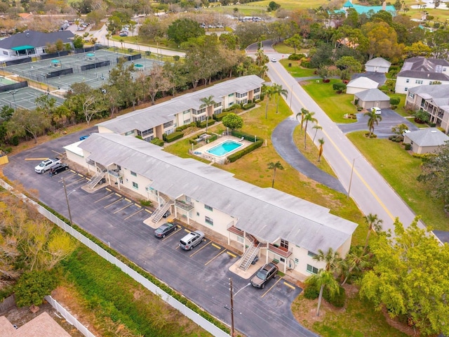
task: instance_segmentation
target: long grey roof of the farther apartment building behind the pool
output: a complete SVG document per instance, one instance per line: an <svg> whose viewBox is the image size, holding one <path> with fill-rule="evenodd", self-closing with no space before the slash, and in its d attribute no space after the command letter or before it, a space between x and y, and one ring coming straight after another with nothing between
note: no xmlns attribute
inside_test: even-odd
<svg viewBox="0 0 449 337"><path fill-rule="evenodd" d="M203 104L201 98L212 95L213 100L218 103L222 101L224 95L229 95L230 93L247 93L255 88L260 88L263 82L264 80L256 75L239 77L215 84L200 91L195 91L194 93L187 93L177 98L172 98L152 107L123 114L115 119L104 121L97 125L104 126L115 133L126 133L133 130L145 131L168 121L173 121L175 114L179 112L192 108L200 110L200 106Z"/></svg>

